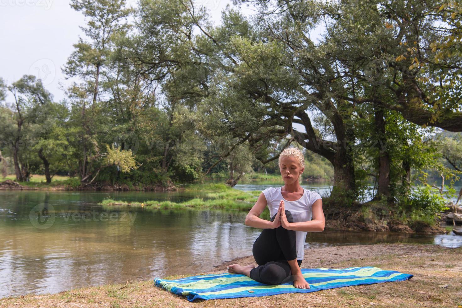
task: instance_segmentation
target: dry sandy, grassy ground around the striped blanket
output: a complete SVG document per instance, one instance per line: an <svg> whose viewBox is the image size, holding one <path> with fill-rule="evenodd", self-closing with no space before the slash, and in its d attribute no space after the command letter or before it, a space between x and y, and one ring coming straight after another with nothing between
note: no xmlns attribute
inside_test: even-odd
<svg viewBox="0 0 462 308"><path fill-rule="evenodd" d="M226 272L233 263L255 264L252 256L213 266ZM380 243L306 249L302 268L376 266L414 275L410 280L358 285L306 294L280 294L188 302L153 285L153 279L0 299L1 307L457 307L462 305L462 248L432 244Z"/></svg>

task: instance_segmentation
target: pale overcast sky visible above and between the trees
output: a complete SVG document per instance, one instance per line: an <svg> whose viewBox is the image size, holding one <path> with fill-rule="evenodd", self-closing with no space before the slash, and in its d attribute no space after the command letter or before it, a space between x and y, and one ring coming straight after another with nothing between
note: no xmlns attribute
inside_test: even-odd
<svg viewBox="0 0 462 308"><path fill-rule="evenodd" d="M128 0L128 6L136 6ZM220 23L221 11L231 0L194 0L195 5L207 7L215 24ZM0 0L0 77L6 84L32 74L42 79L55 102L64 98L71 81L64 79L61 67L73 52L79 35L85 37L79 26L85 26L85 17L74 11L68 0ZM252 7L242 6L245 15L255 13ZM12 101L8 93L7 101ZM301 126L300 126L301 127ZM298 130L303 130L298 128Z"/></svg>

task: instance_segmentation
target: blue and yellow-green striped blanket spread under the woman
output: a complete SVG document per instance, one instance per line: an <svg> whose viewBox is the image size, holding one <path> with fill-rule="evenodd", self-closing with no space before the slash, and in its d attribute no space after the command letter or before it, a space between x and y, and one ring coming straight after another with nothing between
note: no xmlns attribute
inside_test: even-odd
<svg viewBox="0 0 462 308"><path fill-rule="evenodd" d="M387 281L403 281L413 277L397 271L386 271L378 267L302 268L302 274L310 289L298 289L293 283L280 285L261 284L241 274L208 274L187 278L166 280L154 278L154 285L163 287L177 295L195 299L219 299L236 297L270 296L282 293L309 293L325 289L347 287L359 284L378 284Z"/></svg>

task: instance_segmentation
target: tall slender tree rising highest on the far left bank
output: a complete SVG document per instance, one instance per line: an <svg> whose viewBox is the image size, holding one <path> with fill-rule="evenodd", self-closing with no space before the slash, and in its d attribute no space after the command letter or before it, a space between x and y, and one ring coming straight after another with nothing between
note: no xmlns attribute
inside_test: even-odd
<svg viewBox="0 0 462 308"><path fill-rule="evenodd" d="M80 148L74 152L78 155L79 175L83 183L89 184L101 170L101 159L105 155L104 131L109 123L104 121L102 102L107 100L108 91L114 89L107 85L111 79L109 62L115 41L127 31L126 18L132 10L125 7L124 0L73 0L71 7L88 18L87 26L80 27L86 38L79 37L79 42L73 45L75 50L63 73L67 78L80 79L80 83L73 82L67 94L72 104L73 133L78 136L72 136L73 145Z"/></svg>

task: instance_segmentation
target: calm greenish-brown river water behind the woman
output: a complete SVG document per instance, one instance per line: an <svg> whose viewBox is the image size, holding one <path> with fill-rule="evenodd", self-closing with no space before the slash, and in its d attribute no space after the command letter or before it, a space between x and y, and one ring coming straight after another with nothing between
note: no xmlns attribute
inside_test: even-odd
<svg viewBox="0 0 462 308"><path fill-rule="evenodd" d="M261 191L270 186L282 185L240 184L235 188ZM304 187L321 195L330 190L327 185ZM251 255L261 232L244 225L245 212L114 211L97 205L108 197L183 201L204 195L0 191L0 297L205 272L213 265ZM36 211L48 215L39 220ZM326 230L309 232L305 248L377 242L459 247L461 238Z"/></svg>

